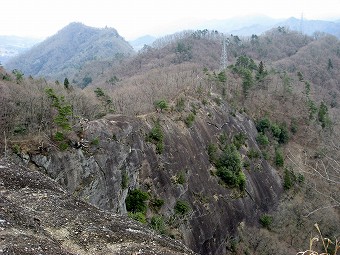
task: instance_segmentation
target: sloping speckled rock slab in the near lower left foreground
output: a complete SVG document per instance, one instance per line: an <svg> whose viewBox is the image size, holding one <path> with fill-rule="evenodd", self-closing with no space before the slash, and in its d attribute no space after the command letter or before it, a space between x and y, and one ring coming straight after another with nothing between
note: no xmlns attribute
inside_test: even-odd
<svg viewBox="0 0 340 255"><path fill-rule="evenodd" d="M0 159L1 254L194 254L125 216L75 199L38 171Z"/></svg>

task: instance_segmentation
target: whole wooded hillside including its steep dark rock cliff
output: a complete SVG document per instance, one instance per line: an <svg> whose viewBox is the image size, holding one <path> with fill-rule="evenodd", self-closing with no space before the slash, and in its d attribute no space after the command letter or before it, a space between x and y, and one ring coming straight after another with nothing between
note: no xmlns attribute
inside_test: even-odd
<svg viewBox="0 0 340 255"><path fill-rule="evenodd" d="M336 37L184 31L96 67L84 89L1 69L2 152L200 254L296 254L315 223L334 253Z"/></svg>

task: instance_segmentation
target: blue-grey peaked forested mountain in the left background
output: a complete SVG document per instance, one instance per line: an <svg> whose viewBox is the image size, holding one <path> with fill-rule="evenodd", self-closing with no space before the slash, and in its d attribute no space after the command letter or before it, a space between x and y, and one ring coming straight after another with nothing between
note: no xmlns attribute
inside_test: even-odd
<svg viewBox="0 0 340 255"><path fill-rule="evenodd" d="M129 43L113 28L98 29L71 23L31 50L8 61L6 68L18 69L26 76L43 76L60 81L68 78L79 86L85 86L91 79L90 70L87 70L88 73L82 72L85 66L95 61L109 60L112 63L132 53Z"/></svg>

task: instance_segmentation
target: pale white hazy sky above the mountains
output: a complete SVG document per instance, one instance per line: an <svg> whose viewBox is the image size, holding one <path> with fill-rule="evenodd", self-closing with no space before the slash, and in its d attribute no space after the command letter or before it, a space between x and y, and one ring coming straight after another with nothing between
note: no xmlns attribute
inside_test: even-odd
<svg viewBox="0 0 340 255"><path fill-rule="evenodd" d="M0 35L44 38L70 22L113 27L127 40L187 29L195 21L263 14L340 19L340 0L4 0Z"/></svg>

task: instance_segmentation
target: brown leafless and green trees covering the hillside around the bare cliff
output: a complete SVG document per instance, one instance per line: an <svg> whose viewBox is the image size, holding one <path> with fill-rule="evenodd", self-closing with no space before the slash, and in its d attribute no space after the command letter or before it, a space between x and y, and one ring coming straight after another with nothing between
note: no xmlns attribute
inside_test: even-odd
<svg viewBox="0 0 340 255"><path fill-rule="evenodd" d="M225 69L222 41L227 48ZM25 155L67 152L80 146L83 121L104 116L170 119L190 130L200 118L209 118L213 109L228 109L228 116L255 123L252 142L258 147L247 147L250 141L245 142L242 134L231 140L228 134L216 137L200 152L209 156L212 175L220 178L219 185L237 190L238 196L249 196L240 171L263 171L258 166L265 160L275 168L283 192L255 224L241 222L230 231L220 244L223 251L296 254L309 249L311 236L320 235L314 227L318 224L323 237L332 241L327 251L336 253L340 235L340 41L336 37L307 36L285 27L250 37L183 31L119 61L92 61L82 71L91 74L91 82L83 88L68 77L49 81L0 67L3 155L25 161ZM162 130L168 127L155 123L146 139L162 154L170 150L162 145ZM90 146L95 145L94 139ZM239 160L236 172L222 164L228 160ZM173 181L185 183L186 175L176 175ZM150 207L161 206L146 192L135 191L145 195L141 212L146 212L144 201L150 200ZM164 222L157 223L151 211L134 214L139 209L131 206L133 198L130 193L126 200L130 216L162 234L186 240L174 232L170 220L159 227ZM177 203L175 211L184 215L187 206ZM322 242L312 248L322 252Z"/></svg>

